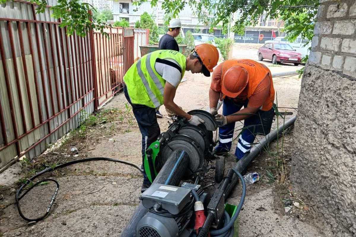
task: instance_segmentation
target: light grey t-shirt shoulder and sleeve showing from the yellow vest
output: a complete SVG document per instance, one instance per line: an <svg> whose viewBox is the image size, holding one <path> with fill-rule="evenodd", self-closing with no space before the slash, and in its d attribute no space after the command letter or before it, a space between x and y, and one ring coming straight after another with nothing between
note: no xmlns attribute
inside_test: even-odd
<svg viewBox="0 0 356 237"><path fill-rule="evenodd" d="M174 59L166 58L165 60L171 61L172 63L175 63L180 67L180 65ZM177 87L179 85L179 82L182 79L182 74L177 68L164 63L156 62L155 69L158 74L161 75L162 78L166 80L169 84L174 87Z"/></svg>

